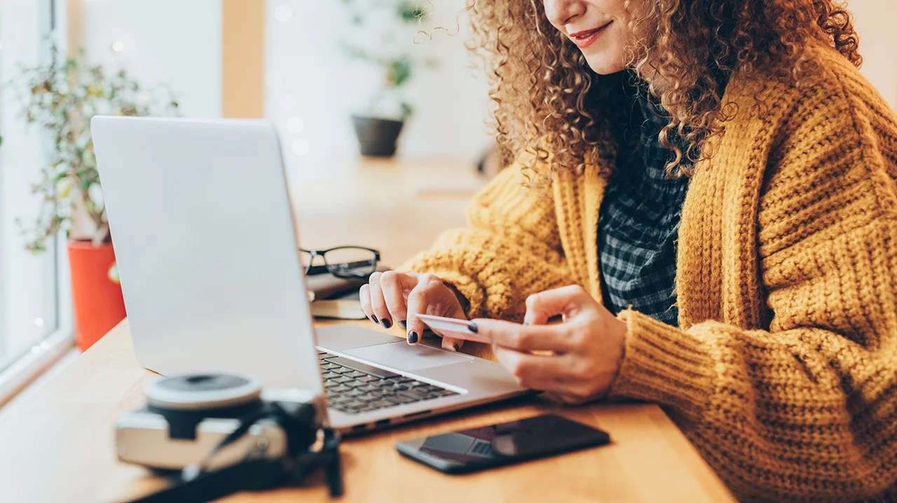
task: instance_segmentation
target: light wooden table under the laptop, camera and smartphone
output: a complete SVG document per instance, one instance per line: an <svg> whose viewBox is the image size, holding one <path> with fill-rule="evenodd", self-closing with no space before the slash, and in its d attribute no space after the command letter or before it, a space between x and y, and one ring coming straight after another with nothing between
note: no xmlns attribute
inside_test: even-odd
<svg viewBox="0 0 897 503"><path fill-rule="evenodd" d="M358 243L397 264L449 226L479 183L448 161L346 162L291 174L303 246ZM361 321L373 327L369 321ZM394 328L394 334L398 331ZM152 377L135 361L124 321L46 384L0 410L0 501L107 502L161 487L142 468L118 463L113 424L142 403ZM557 412L608 431L613 444L575 454L449 476L393 448L406 439ZM564 407L544 398L487 405L347 439L344 501L730 501L730 494L656 405ZM318 477L304 487L242 493L236 501L327 500Z"/></svg>

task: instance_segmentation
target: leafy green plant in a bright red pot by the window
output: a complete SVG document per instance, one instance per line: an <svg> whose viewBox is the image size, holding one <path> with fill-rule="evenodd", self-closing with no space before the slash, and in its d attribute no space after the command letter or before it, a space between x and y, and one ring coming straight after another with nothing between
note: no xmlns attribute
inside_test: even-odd
<svg viewBox="0 0 897 503"><path fill-rule="evenodd" d="M19 78L4 84L19 94L25 122L46 132L53 147L32 185L41 200L39 213L17 223L33 253L46 251L48 239L66 233L75 340L85 350L125 317L91 118L176 114L178 102L170 91L144 90L124 70L85 64L83 55L61 60L56 47L51 52L51 63L22 67Z"/></svg>

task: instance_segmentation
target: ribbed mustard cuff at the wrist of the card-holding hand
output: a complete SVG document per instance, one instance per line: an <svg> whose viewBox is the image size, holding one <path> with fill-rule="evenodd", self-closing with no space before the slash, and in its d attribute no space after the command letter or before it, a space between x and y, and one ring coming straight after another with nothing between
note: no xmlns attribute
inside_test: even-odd
<svg viewBox="0 0 897 503"><path fill-rule="evenodd" d="M690 418L705 410L713 393L714 362L701 340L627 310L626 353L610 398L637 398L666 405Z"/></svg>

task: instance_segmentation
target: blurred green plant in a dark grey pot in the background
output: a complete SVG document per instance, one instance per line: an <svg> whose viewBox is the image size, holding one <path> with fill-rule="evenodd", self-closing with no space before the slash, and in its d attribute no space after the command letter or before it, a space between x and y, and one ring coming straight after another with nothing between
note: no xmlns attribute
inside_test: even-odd
<svg viewBox="0 0 897 503"><path fill-rule="evenodd" d="M361 154L391 157L405 119L414 112L405 91L420 64L431 59L414 55L414 33L426 17L424 3L415 0L343 0L350 15L352 38L340 40L344 53L373 70L363 109L353 114Z"/></svg>

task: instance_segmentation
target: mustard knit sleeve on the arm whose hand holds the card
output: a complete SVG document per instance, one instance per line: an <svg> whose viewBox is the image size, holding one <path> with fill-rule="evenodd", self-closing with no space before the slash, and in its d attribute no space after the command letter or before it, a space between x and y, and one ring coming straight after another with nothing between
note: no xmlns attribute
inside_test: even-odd
<svg viewBox="0 0 897 503"><path fill-rule="evenodd" d="M782 132L759 215L768 330L620 315L612 396L665 405L748 499L894 496L897 124L861 91Z"/></svg>

